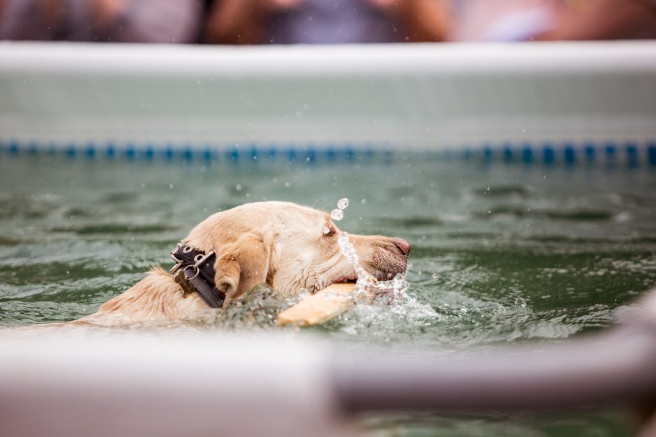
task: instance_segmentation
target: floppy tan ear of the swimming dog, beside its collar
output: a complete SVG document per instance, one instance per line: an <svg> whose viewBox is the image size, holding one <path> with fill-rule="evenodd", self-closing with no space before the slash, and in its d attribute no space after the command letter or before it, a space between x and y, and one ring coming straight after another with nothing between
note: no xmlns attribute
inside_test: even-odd
<svg viewBox="0 0 656 437"><path fill-rule="evenodd" d="M246 235L223 247L216 256L216 288L226 298L236 298L262 282L267 282L271 257L271 238Z"/></svg>

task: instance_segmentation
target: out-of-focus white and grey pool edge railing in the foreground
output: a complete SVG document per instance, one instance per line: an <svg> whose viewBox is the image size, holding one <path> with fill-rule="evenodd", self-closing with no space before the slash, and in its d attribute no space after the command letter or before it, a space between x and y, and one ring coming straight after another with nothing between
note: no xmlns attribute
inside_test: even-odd
<svg viewBox="0 0 656 437"><path fill-rule="evenodd" d="M292 335L66 328L0 335L1 436L333 436L364 411L654 407L656 293L567 344L398 358ZM656 433L656 417L639 435Z"/></svg>

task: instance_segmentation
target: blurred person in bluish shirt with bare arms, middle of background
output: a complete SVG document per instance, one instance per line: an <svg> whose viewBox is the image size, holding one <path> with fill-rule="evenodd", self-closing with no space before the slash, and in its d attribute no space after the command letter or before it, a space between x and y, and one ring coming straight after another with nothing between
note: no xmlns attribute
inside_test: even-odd
<svg viewBox="0 0 656 437"><path fill-rule="evenodd" d="M208 43L395 43L443 41L449 0L216 0Z"/></svg>

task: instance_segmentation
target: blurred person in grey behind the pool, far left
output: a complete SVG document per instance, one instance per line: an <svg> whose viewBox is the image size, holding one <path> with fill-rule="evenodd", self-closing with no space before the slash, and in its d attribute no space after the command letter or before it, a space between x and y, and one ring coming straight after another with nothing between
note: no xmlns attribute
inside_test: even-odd
<svg viewBox="0 0 656 437"><path fill-rule="evenodd" d="M0 0L0 39L193 43L199 0Z"/></svg>

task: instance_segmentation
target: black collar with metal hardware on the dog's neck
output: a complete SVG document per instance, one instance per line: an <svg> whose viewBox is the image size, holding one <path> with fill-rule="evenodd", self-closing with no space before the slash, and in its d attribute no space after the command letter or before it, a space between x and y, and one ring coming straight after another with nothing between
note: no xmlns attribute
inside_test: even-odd
<svg viewBox="0 0 656 437"><path fill-rule="evenodd" d="M184 297L197 291L210 307L223 307L225 293L216 289L214 285L214 275L216 274L214 251L206 254L191 246L178 243L171 252L171 258L175 261L171 274L175 282L182 287Z"/></svg>

